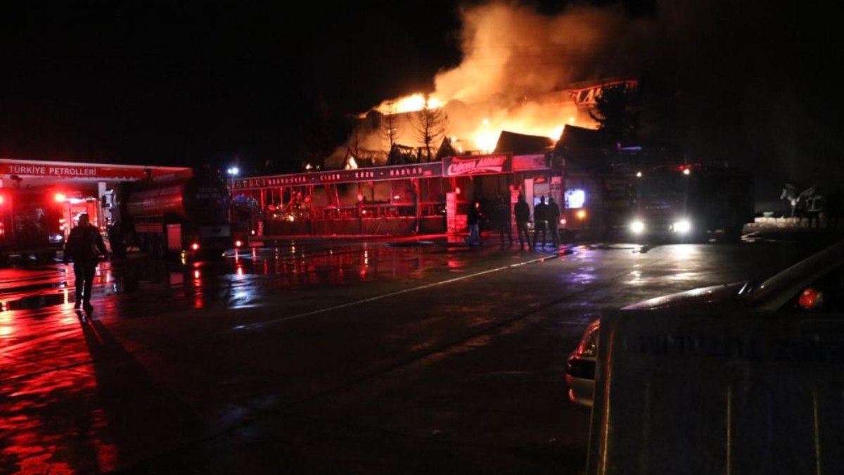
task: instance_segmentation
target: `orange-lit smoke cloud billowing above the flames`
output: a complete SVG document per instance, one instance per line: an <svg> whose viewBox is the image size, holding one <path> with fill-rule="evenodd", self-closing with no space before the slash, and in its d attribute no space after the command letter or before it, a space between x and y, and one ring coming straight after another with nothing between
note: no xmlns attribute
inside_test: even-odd
<svg viewBox="0 0 844 475"><path fill-rule="evenodd" d="M626 74L631 50L647 47L648 20L620 8L574 8L558 17L512 3L463 11L463 63L436 76L444 100L546 93L582 80Z"/></svg>

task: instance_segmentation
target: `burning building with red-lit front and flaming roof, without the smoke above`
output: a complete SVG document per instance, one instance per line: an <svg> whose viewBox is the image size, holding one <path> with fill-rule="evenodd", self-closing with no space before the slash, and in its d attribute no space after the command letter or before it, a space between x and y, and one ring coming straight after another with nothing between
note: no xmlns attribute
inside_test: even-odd
<svg viewBox="0 0 844 475"><path fill-rule="evenodd" d="M499 195L516 203L523 194L530 205L541 196L561 203L555 145L566 125L594 127L595 97L619 84L636 85L604 79L512 101L385 101L360 115L329 170L243 178L235 189L264 210L257 234L457 233L476 201L483 208Z"/></svg>

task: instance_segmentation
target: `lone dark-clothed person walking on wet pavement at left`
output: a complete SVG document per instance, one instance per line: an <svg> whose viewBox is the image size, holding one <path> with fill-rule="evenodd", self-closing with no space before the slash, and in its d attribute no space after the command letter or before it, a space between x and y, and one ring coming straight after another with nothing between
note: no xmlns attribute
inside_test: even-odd
<svg viewBox="0 0 844 475"><path fill-rule="evenodd" d="M87 213L79 215L79 224L70 231L64 246L64 263L73 261L73 275L76 277L76 298L73 308L84 306L90 312L91 287L97 270L100 254L107 254L106 243L97 227L92 226Z"/></svg>

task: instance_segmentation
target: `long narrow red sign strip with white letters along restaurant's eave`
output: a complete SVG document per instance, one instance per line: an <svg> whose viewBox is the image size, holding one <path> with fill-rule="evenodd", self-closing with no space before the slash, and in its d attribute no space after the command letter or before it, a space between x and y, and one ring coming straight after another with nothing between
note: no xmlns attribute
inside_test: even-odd
<svg viewBox="0 0 844 475"><path fill-rule="evenodd" d="M402 178L427 178L442 176L440 162L398 165L396 167L356 168L354 170L331 170L327 172L295 173L268 177L241 178L235 180L235 188L267 188L280 186L319 185L326 183L359 183L398 180Z"/></svg>

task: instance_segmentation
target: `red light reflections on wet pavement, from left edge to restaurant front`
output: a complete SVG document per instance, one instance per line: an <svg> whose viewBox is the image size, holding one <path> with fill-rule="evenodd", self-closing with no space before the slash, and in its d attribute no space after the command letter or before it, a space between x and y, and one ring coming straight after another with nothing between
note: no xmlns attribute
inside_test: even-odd
<svg viewBox="0 0 844 475"><path fill-rule="evenodd" d="M466 252L479 251L442 243L289 244L194 264L102 262L94 318L73 311L72 266L2 269L0 398L7 403L0 407L0 472L109 472L149 452L133 434L167 428L182 434L177 440L203 434L195 408L150 380L138 355L129 352L131 342L116 341L104 322L181 308L238 308L284 289L449 276L472 267Z"/></svg>

